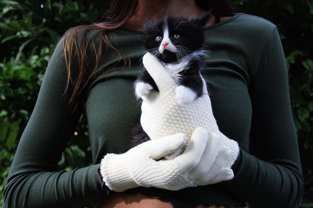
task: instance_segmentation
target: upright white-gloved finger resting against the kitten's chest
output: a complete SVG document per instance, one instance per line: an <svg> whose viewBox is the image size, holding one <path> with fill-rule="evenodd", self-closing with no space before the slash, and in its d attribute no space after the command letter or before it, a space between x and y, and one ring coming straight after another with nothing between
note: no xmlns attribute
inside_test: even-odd
<svg viewBox="0 0 313 208"><path fill-rule="evenodd" d="M160 93L176 86L175 80L170 76L161 62L151 53L145 53L142 63L153 78Z"/></svg>

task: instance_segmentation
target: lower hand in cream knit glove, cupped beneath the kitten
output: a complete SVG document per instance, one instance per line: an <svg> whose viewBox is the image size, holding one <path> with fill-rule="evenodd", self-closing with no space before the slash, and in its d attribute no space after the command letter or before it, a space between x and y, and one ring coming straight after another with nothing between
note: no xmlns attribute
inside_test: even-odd
<svg viewBox="0 0 313 208"><path fill-rule="evenodd" d="M107 154L100 166L103 182L116 192L138 186L176 191L233 177L231 169L224 167L231 156L230 149L222 146L218 134L208 135L202 127L194 131L181 155L161 160L185 142L184 134L175 134L149 140L123 154Z"/></svg>

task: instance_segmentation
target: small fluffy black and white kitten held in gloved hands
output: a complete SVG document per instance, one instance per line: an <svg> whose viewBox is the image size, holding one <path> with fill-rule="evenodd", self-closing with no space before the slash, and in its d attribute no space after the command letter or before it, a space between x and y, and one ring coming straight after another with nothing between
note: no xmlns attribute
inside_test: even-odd
<svg viewBox="0 0 313 208"><path fill-rule="evenodd" d="M166 16L144 25L147 33L144 47L160 60L176 81L175 99L178 104L191 103L202 95L200 70L207 56L203 27L209 17L210 13L192 20ZM157 86L144 69L135 82L136 96L147 95L152 89L157 90Z"/></svg>

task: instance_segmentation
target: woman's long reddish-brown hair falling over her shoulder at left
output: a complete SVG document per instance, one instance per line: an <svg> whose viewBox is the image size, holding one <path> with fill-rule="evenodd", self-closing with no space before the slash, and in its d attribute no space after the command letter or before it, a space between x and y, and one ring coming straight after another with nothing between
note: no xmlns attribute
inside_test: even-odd
<svg viewBox="0 0 313 208"><path fill-rule="evenodd" d="M211 13L216 16L228 15L234 12L228 0L196 0L196 3L204 10L211 9ZM63 35L63 50L67 69L66 90L69 89L69 86L72 89L69 104L73 105L74 109L76 108L77 99L79 99L81 91L84 90L86 84L97 69L104 44L118 52L124 61L123 67L130 65L129 58L110 43L107 32L122 26L134 14L137 4L138 0L112 0L110 7L98 23L73 27ZM86 38L87 32L95 28L97 32L92 37ZM92 40L99 34L101 35L100 42L94 45ZM95 54L95 63L93 69L86 71L84 70L86 50L90 46ZM77 61L75 63L76 67L72 67L74 64L73 55L75 56L75 62ZM73 73L72 70L78 70L78 72ZM73 76L73 74L76 75Z"/></svg>

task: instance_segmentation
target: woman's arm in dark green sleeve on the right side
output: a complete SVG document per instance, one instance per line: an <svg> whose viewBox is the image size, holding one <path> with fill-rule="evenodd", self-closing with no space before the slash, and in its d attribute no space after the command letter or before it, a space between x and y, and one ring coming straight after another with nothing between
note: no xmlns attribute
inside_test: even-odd
<svg viewBox="0 0 313 208"><path fill-rule="evenodd" d="M285 58L276 28L263 50L250 97L250 154L240 151L233 166L235 177L225 185L250 205L295 208L303 195L303 179Z"/></svg>

